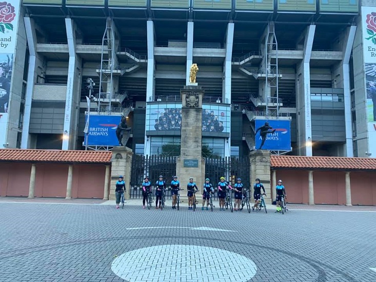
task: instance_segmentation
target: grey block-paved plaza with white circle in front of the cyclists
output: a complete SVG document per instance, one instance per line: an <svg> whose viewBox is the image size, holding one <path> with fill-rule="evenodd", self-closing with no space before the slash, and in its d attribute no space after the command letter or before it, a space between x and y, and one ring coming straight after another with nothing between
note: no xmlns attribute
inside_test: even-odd
<svg viewBox="0 0 376 282"><path fill-rule="evenodd" d="M0 202L1 282L376 281L375 207L282 215L22 202Z"/></svg>

